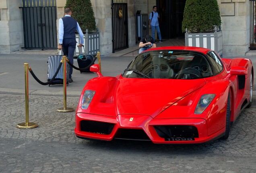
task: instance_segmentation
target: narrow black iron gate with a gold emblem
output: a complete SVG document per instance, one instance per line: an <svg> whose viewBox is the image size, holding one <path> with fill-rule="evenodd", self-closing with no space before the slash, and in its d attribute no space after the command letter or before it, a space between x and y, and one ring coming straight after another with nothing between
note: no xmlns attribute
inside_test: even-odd
<svg viewBox="0 0 256 173"><path fill-rule="evenodd" d="M117 0L114 2L120 2ZM128 10L127 3L114 3L112 0L112 52L128 48Z"/></svg>

